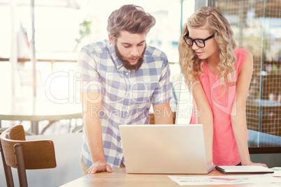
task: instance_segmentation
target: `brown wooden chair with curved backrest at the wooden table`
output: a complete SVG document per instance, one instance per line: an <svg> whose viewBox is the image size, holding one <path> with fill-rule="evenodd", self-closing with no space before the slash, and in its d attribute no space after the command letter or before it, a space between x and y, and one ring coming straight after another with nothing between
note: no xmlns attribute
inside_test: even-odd
<svg viewBox="0 0 281 187"><path fill-rule="evenodd" d="M10 167L17 168L20 186L28 186L26 170L57 167L54 143L51 140L25 140L22 125L3 131L0 142L8 187L14 186Z"/></svg>

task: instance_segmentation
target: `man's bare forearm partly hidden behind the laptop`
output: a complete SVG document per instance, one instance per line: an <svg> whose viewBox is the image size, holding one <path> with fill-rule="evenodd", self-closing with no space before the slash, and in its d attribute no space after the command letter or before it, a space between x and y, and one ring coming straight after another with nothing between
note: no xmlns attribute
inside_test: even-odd
<svg viewBox="0 0 281 187"><path fill-rule="evenodd" d="M153 105L155 124L173 124L173 112L170 101Z"/></svg>

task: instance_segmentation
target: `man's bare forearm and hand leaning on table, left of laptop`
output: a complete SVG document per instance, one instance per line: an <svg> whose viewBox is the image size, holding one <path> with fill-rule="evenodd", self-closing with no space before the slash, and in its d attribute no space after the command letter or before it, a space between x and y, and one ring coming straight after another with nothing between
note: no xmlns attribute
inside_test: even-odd
<svg viewBox="0 0 281 187"><path fill-rule="evenodd" d="M101 93L81 93L81 96L85 135L93 161L87 174L101 171L112 172L110 165L106 163L103 151L101 120L99 119Z"/></svg>

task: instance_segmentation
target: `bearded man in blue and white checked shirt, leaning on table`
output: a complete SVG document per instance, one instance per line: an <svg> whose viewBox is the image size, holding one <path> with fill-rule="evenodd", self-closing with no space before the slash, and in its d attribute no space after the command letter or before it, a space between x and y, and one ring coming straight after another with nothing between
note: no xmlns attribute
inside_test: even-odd
<svg viewBox="0 0 281 187"><path fill-rule="evenodd" d="M108 17L109 40L80 52L83 174L123 165L119 125L149 124L151 105L155 124L173 124L168 59L145 42L154 24L140 6L122 6Z"/></svg>

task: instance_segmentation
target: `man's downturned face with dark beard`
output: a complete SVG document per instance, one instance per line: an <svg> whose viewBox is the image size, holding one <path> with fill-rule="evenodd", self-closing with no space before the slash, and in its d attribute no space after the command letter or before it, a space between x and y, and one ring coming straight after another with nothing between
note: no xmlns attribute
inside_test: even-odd
<svg viewBox="0 0 281 187"><path fill-rule="evenodd" d="M113 40L109 36L110 42L115 45L115 52L128 70L137 70L143 63L143 55L146 48L145 33L130 33L120 31L120 37Z"/></svg>

